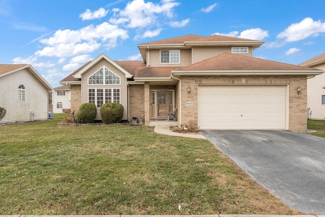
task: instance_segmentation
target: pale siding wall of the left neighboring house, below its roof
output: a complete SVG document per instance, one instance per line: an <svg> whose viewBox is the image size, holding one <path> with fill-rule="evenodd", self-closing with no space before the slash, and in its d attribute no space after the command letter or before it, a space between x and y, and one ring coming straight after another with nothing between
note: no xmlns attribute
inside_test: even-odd
<svg viewBox="0 0 325 217"><path fill-rule="evenodd" d="M23 84L26 101L18 101L18 86ZM7 110L0 121L29 121L30 111L34 111L34 120L48 118L48 90L27 70L23 69L0 77L0 107Z"/></svg>

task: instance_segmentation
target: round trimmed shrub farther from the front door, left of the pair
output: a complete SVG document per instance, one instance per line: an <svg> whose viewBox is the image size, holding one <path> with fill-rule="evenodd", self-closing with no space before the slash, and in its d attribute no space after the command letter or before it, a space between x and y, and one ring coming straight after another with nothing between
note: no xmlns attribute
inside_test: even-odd
<svg viewBox="0 0 325 217"><path fill-rule="evenodd" d="M79 108L76 121L78 123L93 123L95 121L96 114L97 108L95 104L83 103Z"/></svg>

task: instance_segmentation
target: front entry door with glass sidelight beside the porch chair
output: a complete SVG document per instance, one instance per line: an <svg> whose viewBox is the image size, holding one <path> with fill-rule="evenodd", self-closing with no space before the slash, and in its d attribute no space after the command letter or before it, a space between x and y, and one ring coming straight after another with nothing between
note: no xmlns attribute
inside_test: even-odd
<svg viewBox="0 0 325 217"><path fill-rule="evenodd" d="M174 90L151 90L151 118L167 118L174 110Z"/></svg>

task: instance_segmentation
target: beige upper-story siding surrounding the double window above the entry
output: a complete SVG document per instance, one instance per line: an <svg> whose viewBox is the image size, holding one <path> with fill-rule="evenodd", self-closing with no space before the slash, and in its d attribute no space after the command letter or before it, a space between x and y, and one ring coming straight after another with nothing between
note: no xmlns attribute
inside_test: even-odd
<svg viewBox="0 0 325 217"><path fill-rule="evenodd" d="M173 49L162 49L162 50L173 50ZM177 49L175 49L177 50ZM149 61L147 59L147 66L150 64L152 67L183 67L191 64L191 50L181 49L180 50L180 64L160 64L160 50L149 51Z"/></svg>

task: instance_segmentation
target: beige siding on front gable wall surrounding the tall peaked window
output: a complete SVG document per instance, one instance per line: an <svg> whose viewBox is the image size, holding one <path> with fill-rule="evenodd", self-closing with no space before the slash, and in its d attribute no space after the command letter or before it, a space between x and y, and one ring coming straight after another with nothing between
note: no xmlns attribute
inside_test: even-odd
<svg viewBox="0 0 325 217"><path fill-rule="evenodd" d="M118 75L121 79L121 84L92 84L88 85L88 77L101 69L103 66L114 72L116 75ZM118 70L115 66L113 66L111 63L109 63L106 59L102 59L99 61L98 64L94 65L91 67L87 72L85 72L82 75L81 79L81 98L82 98L82 103L87 103L88 102L88 89L89 88L120 88L120 103L124 107L124 114L123 114L123 120L127 120L127 85L126 85L126 78L125 74ZM100 115L100 109L97 109L97 116L96 120L101 120L101 115Z"/></svg>

